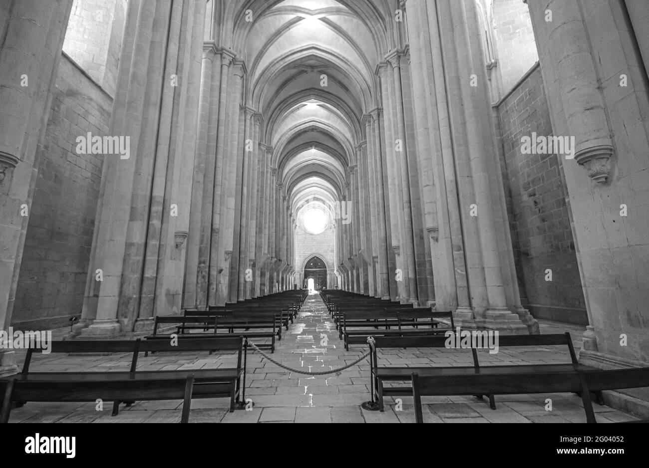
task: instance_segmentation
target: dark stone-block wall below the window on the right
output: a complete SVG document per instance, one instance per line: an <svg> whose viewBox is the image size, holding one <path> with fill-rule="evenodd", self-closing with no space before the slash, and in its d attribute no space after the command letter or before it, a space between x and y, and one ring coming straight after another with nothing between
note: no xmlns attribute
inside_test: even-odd
<svg viewBox="0 0 649 468"><path fill-rule="evenodd" d="M525 135L552 135L538 65L500 103L498 117L509 227L523 305L535 318L587 325L558 156L522 154L520 149ZM546 281L546 270L552 270L552 281Z"/></svg>

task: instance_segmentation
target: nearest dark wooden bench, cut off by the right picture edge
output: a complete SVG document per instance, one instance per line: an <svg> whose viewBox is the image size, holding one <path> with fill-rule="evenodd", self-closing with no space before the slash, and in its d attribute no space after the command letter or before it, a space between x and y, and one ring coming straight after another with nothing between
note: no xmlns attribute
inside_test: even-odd
<svg viewBox="0 0 649 468"><path fill-rule="evenodd" d="M506 366L491 366L479 373L440 373L419 375L411 373L412 395L415 403L415 421L423 423L422 396L474 395L489 393L511 395L513 393L579 393L588 423L595 423L591 392L620 388L649 386L649 368L639 369L567 369L557 372L547 366L524 366L512 373ZM643 421L649 422L649 421Z"/></svg>

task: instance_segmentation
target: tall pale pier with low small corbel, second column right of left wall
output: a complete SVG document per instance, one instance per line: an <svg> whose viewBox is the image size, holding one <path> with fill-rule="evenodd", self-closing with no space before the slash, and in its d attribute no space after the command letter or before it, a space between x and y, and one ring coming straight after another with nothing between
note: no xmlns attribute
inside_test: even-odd
<svg viewBox="0 0 649 468"><path fill-rule="evenodd" d="M182 1L173 0L170 26L172 34L176 34L175 31L178 29L178 25L174 23L180 22L178 15L179 12L182 12L183 6ZM197 115L201 89L205 8L205 0L195 2L193 16L188 13L187 20L180 23L180 32L183 34L182 37L178 37L178 46L175 45L173 36L170 36L168 47L168 54L171 56L167 60L177 60L177 54L171 52L177 47L183 51L182 76L180 77L182 92L180 99L174 99L178 106L171 119L169 143L165 139L167 135L162 131L162 126L158 133L158 153L161 156L166 154L167 146L173 145L169 148L169 156L166 161L167 164L173 162L173 170L171 168L165 170L165 158L160 158L159 164L156 162L153 208L149 240L147 240L148 263L145 264L145 279L143 281L143 296L151 294L149 290L153 290L154 287L153 314L156 315L177 314L182 309L182 285L187 260L187 248L183 247L186 247L189 231L198 230L198 224L194 225L195 228L190 226L193 207L192 183L199 123ZM168 71L165 72L165 94L169 98L175 94L173 89L177 88L171 86L171 75L175 75L175 73L171 72L171 65L169 65ZM186 86L182 86L182 83L186 83ZM165 97L163 97L163 102L164 99ZM167 119L164 108L160 113L163 121ZM184 141L185 138L188 140L187 142ZM161 193L163 186L164 194ZM166 203L165 200L167 200ZM177 205L178 216L172 215L171 205ZM161 218L159 235L158 216ZM153 266L154 261L157 263L156 266ZM169 307L170 305L171 307ZM142 311L140 311L140 318L142 317Z"/></svg>

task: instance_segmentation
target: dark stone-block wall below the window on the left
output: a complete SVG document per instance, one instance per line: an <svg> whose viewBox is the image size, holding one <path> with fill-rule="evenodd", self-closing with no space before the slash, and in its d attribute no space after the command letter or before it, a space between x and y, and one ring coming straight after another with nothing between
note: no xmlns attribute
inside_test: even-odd
<svg viewBox="0 0 649 468"><path fill-rule="evenodd" d="M80 316L103 156L77 154L75 140L105 135L111 97L63 55L40 154L11 325L65 326Z"/></svg>

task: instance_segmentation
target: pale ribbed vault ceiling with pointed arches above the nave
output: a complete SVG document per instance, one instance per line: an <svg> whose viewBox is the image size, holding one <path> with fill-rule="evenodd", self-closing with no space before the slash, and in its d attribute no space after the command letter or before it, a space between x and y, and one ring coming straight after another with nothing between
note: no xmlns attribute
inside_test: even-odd
<svg viewBox="0 0 649 468"><path fill-rule="evenodd" d="M330 209L344 198L363 115L376 108L376 66L396 43L393 2L217 3L221 40L245 60L247 104L264 116L295 217L313 203Z"/></svg>

